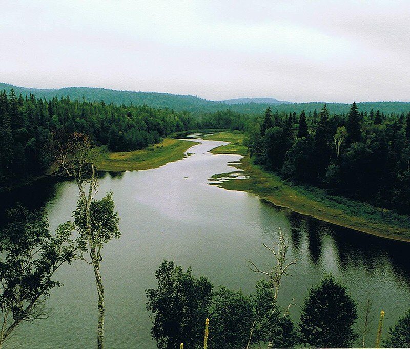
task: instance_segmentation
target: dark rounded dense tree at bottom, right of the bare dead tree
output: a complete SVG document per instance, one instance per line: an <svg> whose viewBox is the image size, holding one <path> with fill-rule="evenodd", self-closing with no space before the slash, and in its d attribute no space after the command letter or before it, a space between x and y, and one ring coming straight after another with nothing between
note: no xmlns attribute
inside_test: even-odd
<svg viewBox="0 0 410 349"><path fill-rule="evenodd" d="M327 275L304 301L299 325L301 340L315 348L350 347L357 338L352 328L356 319L357 307L352 297Z"/></svg>

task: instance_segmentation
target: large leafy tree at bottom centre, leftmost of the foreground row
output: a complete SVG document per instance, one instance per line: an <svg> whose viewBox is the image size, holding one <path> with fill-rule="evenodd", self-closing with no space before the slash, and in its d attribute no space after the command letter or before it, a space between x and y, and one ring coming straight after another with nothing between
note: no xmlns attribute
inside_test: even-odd
<svg viewBox="0 0 410 349"><path fill-rule="evenodd" d="M155 272L156 289L146 291L147 309L153 313L152 338L159 349L174 349L180 343L187 348L201 348L203 324L208 317L212 284L204 277L195 278L174 262L163 261ZM212 337L211 320L211 337Z"/></svg>

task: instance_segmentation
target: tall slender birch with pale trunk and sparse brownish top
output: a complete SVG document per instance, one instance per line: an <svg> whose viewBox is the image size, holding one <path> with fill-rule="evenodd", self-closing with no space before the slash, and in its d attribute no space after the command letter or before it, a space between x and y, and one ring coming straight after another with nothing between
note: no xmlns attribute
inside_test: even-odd
<svg viewBox="0 0 410 349"><path fill-rule="evenodd" d="M75 179L78 187L77 209L74 211L77 243L81 259L92 265L98 295L97 347L104 347L104 284L101 277L101 250L111 239L121 235L119 218L114 211L112 192L96 200L98 177L94 166L96 151L91 140L84 134L74 133L65 141L56 139L54 156L60 172ZM85 256L89 255L89 258Z"/></svg>

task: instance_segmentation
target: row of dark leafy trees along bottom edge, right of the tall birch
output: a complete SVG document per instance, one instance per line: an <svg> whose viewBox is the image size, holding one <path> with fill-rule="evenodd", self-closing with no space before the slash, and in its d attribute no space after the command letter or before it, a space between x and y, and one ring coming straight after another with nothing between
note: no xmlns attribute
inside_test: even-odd
<svg viewBox="0 0 410 349"><path fill-rule="evenodd" d="M196 278L191 268L185 271L173 262L164 261L155 276L158 287L147 290L147 308L153 313L151 334L159 349L179 348L180 343L197 349L372 347L366 343L368 334L377 338L375 347L410 345L410 311L381 341L381 333L370 332L370 323L378 320L370 317L371 301L364 314L358 314L357 303L332 275L310 289L298 323L290 318L291 306L277 305L269 281L258 281L255 293L248 296L226 287L213 290L206 277ZM359 316L363 326L356 326Z"/></svg>

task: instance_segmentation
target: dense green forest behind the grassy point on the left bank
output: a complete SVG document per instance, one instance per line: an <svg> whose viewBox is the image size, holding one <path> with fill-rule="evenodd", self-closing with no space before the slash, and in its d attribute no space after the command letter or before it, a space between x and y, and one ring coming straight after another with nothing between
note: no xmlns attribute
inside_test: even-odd
<svg viewBox="0 0 410 349"><path fill-rule="evenodd" d="M158 143L174 132L200 128L244 128L243 115L230 111L208 114L203 121L188 112L95 103L33 94L0 93L0 187L46 172L53 162L50 143L55 134L80 132L96 146L128 151Z"/></svg>

